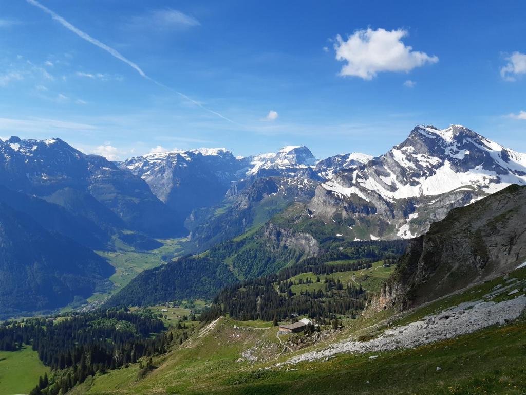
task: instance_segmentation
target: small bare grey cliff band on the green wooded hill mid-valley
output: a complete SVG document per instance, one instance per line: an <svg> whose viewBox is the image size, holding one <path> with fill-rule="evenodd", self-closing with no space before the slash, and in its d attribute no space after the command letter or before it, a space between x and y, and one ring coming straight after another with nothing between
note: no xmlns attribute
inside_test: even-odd
<svg viewBox="0 0 526 395"><path fill-rule="evenodd" d="M305 258L317 256L320 252L318 240L308 233L294 232L290 229L282 229L269 222L265 226L263 237L267 240L272 251L279 250L283 246L301 251Z"/></svg>

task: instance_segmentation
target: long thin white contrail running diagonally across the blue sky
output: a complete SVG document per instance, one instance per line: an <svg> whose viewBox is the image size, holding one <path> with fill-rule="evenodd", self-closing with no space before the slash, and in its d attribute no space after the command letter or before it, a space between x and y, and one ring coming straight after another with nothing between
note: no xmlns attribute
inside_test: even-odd
<svg viewBox="0 0 526 395"><path fill-rule="evenodd" d="M169 86L166 86L166 85L154 80L150 76L146 75L146 73L143 70L141 70L141 68L136 63L130 61L129 59L127 59L126 57L121 55L118 51L114 50L112 47L110 47L110 46L98 41L96 38L93 38L89 34L83 32L79 28L73 26L68 21L66 21L66 19L64 19L62 16L58 15L52 9L49 9L46 6L40 4L37 0L26 0L26 1L29 4L34 5L35 7L38 7L40 9L42 9L42 11L44 11L46 14L51 15L51 17L55 21L57 21L62 26L64 26L65 28L67 28L70 31L72 31L73 33L75 33L80 38L83 38L83 40L86 40L87 42L98 46L100 49L102 49L102 50L106 51L107 53L109 53L110 55L116 57L119 61L122 61L122 62L126 63L128 66L132 67L137 73L139 73L142 77L146 78L147 80L149 80L149 81L153 82L154 84L156 84L156 85L158 85L160 87L163 87L163 88L165 88L165 89L167 89L169 91L172 91L172 92L178 94L181 97L184 97L186 100L190 101L191 103L197 105L200 108L203 108L203 110L208 111L211 114L217 115L218 117L224 119L225 121L228 121L228 122L233 123L235 125L240 125L239 123L237 123L235 121L232 121L230 118L227 118L226 116L218 113L217 111L210 110L210 108L205 107L203 104L201 104L198 101L194 100L193 98L185 95L184 93L181 93L181 92L179 92L179 91L177 91L177 90L175 90L173 88L170 88Z"/></svg>

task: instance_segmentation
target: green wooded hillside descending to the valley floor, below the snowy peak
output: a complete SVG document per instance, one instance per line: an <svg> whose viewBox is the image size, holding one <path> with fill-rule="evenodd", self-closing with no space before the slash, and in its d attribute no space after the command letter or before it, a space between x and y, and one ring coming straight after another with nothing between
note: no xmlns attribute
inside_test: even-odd
<svg viewBox="0 0 526 395"><path fill-rule="evenodd" d="M405 244L402 241L347 242L321 248L309 234L285 232L270 222L239 238L220 243L203 254L177 258L166 265L145 270L106 305L150 305L188 298L213 299L221 288L239 280L272 275L289 266L295 268L296 274L303 269L309 272L312 269L309 265L313 262L389 259L401 254ZM333 268L338 269L338 265Z"/></svg>

